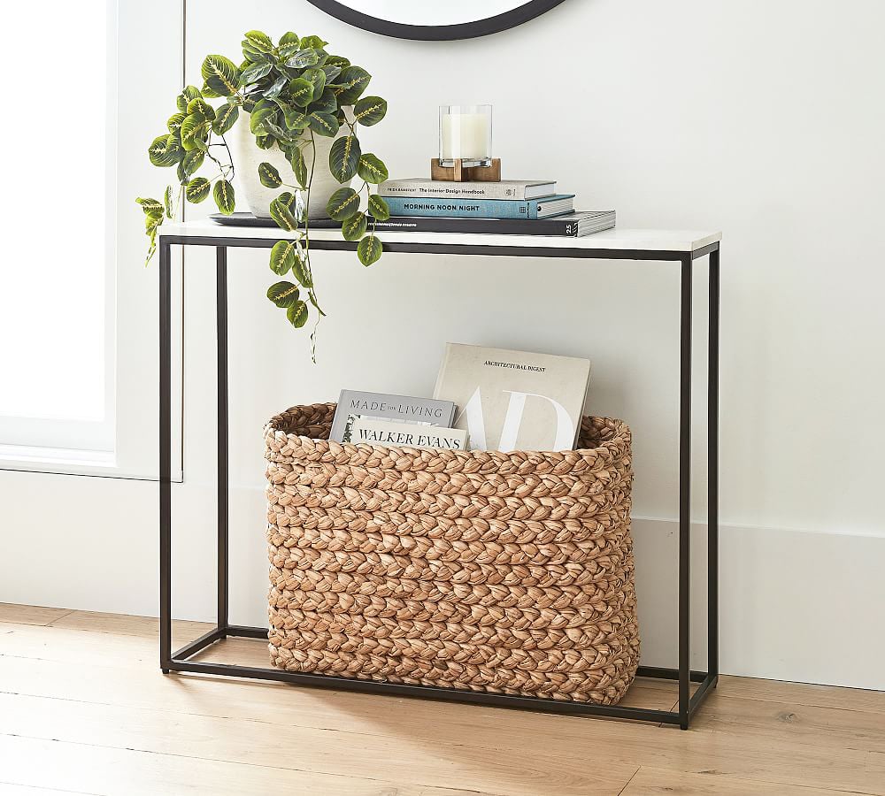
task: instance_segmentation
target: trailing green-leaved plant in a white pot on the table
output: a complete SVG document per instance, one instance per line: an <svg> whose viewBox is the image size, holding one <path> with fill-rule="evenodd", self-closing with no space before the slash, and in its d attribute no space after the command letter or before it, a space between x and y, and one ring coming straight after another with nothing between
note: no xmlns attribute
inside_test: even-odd
<svg viewBox="0 0 885 796"><path fill-rule="evenodd" d="M162 202L136 200L144 210L149 261L158 227L164 218L174 218L182 199L201 203L212 195L220 212L233 213L235 158L226 136L235 125L248 125L236 149L250 210L291 233L271 249L270 268L292 280L273 284L267 297L296 327L307 322L308 304L318 321L324 315L311 271L310 220L325 211L341 221L344 239L357 241L359 261L371 265L382 250L374 219L390 215L371 188L387 179L387 167L362 151L357 133L358 126L380 122L387 103L380 96L363 96L371 75L345 57L330 55L326 45L319 36L299 38L291 32L274 44L252 30L243 38L240 65L206 56L203 88L184 88L167 132L148 149L153 165L174 167L177 188L168 186ZM198 175L204 168L208 172ZM356 190L350 187L355 177L362 180Z"/></svg>

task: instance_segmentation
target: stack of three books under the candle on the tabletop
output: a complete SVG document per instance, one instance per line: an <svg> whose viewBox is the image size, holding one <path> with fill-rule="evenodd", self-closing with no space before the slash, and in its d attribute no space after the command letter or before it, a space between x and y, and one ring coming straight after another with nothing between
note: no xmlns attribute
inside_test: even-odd
<svg viewBox="0 0 885 796"><path fill-rule="evenodd" d="M614 210L575 211L553 180L388 180L378 194L390 209L379 230L581 237L615 225Z"/></svg>

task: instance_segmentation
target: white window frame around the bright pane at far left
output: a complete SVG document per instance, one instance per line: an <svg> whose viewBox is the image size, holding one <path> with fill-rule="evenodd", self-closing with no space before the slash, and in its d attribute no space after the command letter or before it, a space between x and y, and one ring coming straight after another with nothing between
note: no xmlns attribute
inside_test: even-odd
<svg viewBox="0 0 885 796"><path fill-rule="evenodd" d="M147 251L136 195L165 180L138 157L142 139L168 115L183 78L184 4L157 0L128 4L105 0L108 36L103 421L0 416L0 470L58 472L110 478L158 479L158 266L142 267ZM173 52L158 57L170 23L181 37ZM150 64L150 69L144 65ZM183 85L183 83L181 83ZM138 90L120 91L120 86ZM173 87L173 88L170 88ZM135 145L135 146L134 146ZM119 152L124 157L120 159ZM156 189L156 188L154 188ZM147 194L150 195L150 194ZM68 246L90 240L89 224ZM182 259L173 258L173 302L181 306ZM181 317L181 314L179 315ZM181 324L173 344L173 439L183 439ZM173 445L173 479L183 479L183 445Z"/></svg>

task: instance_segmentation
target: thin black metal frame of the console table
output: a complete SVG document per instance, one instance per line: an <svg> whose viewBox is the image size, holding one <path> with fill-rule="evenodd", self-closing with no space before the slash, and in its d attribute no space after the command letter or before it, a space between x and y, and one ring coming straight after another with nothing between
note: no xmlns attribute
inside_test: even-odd
<svg viewBox="0 0 885 796"><path fill-rule="evenodd" d="M228 450L227 450L227 249L269 249L271 238L160 235L160 668L227 677L279 680L296 685L314 685L344 691L390 693L436 700L478 702L498 707L527 708L560 714L613 716L655 723L678 724L687 730L691 717L716 686L719 677L719 242L695 251L646 251L612 249L566 249L543 245L491 246L458 243L387 242L389 253L481 255L510 257L567 257L678 262L681 264L680 293L680 408L679 408L679 668L641 666L640 677L678 681L676 710L593 705L582 702L546 700L509 694L473 692L427 685L401 685L351 677L303 674L270 668L190 660L206 647L228 637L266 639L267 629L230 624L228 620ZM172 279L171 247L212 246L216 249L218 324L218 612L215 628L199 639L173 651L172 648ZM317 250L355 249L346 241L311 241ZM694 261L709 256L708 373L707 373L707 670L690 669L690 442L691 442L691 315ZM695 693L691 684L698 683Z"/></svg>

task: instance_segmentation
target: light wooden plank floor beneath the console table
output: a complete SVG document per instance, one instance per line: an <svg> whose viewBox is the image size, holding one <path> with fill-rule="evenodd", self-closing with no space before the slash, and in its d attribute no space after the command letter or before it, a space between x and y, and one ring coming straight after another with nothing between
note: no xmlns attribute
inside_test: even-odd
<svg viewBox="0 0 885 796"><path fill-rule="evenodd" d="M176 643L204 625L177 623ZM162 675L158 622L0 604L0 793L885 794L885 693L723 677L687 732ZM205 660L266 665L260 641ZM628 704L673 708L640 680Z"/></svg>

